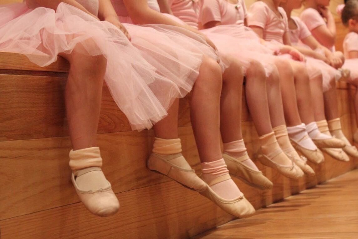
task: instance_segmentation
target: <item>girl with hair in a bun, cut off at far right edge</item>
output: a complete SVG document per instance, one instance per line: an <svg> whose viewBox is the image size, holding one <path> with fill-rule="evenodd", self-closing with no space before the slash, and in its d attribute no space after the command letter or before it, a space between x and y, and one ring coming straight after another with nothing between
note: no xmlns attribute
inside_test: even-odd
<svg viewBox="0 0 358 239"><path fill-rule="evenodd" d="M344 1L345 5L339 11L343 24L348 27L349 33L343 41L344 68L350 70L348 82L358 87L358 1ZM358 91L354 96L355 118L358 120ZM358 130L354 133L354 141L358 142Z"/></svg>

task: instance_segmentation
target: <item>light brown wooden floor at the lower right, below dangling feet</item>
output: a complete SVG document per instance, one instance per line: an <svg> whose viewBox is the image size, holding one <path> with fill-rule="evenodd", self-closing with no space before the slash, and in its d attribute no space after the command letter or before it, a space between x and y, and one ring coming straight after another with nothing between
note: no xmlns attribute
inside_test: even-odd
<svg viewBox="0 0 358 239"><path fill-rule="evenodd" d="M357 239L358 169L193 239Z"/></svg>

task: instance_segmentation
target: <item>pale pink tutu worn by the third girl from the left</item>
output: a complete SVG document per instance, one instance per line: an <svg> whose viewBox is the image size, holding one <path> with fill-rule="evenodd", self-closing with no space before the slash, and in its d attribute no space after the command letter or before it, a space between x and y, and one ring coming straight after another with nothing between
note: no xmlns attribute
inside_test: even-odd
<svg viewBox="0 0 358 239"><path fill-rule="evenodd" d="M250 66L250 62L256 60L262 63L266 76L271 75L274 69L272 64L274 51L262 45L260 38L250 29L243 25L219 25L200 32L213 41L223 59L231 55L240 60L244 72Z"/></svg>

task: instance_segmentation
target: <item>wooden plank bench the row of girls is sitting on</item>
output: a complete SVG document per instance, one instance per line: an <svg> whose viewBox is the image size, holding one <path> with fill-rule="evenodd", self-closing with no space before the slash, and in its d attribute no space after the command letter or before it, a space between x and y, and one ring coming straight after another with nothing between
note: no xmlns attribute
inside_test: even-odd
<svg viewBox="0 0 358 239"><path fill-rule="evenodd" d="M153 131L131 131L106 86L98 146L104 160L103 171L121 208L109 218L91 215L79 202L70 181L71 142L63 96L67 71L68 64L62 58L40 68L22 55L0 53L1 239L179 239L234 218L198 193L146 168ZM188 97L180 101L179 134L184 156L199 172L188 102ZM338 84L338 102L343 131L352 140L357 126L350 89L344 82ZM254 159L258 150L257 134L245 100L242 125L248 152ZM317 173L315 177L298 181L255 162L274 182L272 190L260 191L237 179L234 181L259 209L357 166L353 158L348 163L328 155L325 158L321 166L310 164Z"/></svg>

